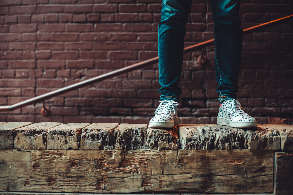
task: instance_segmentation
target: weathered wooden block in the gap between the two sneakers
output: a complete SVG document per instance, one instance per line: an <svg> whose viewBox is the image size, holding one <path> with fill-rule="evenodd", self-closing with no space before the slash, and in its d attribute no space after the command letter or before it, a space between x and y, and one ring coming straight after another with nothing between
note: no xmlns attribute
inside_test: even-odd
<svg viewBox="0 0 293 195"><path fill-rule="evenodd" d="M214 134L202 124L178 125L181 149L214 149Z"/></svg>

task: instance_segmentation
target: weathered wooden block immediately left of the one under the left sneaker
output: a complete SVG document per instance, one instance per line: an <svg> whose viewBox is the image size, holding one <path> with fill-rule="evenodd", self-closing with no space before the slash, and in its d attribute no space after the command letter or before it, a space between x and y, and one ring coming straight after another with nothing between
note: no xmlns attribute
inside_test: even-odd
<svg viewBox="0 0 293 195"><path fill-rule="evenodd" d="M146 149L147 125L123 123L114 129L113 138L116 150Z"/></svg>

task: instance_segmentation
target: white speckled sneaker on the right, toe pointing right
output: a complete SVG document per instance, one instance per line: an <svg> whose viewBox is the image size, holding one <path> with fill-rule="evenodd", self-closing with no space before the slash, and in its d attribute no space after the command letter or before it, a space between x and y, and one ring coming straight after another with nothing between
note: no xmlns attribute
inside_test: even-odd
<svg viewBox="0 0 293 195"><path fill-rule="evenodd" d="M239 101L231 99L221 103L217 124L243 128L256 127L257 121L242 110Z"/></svg>

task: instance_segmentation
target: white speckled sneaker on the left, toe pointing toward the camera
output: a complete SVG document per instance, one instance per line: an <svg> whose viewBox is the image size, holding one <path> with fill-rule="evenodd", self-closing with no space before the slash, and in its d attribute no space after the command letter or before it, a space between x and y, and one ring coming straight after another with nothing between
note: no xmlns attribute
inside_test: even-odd
<svg viewBox="0 0 293 195"><path fill-rule="evenodd" d="M178 102L173 100L160 101L154 117L149 121L151 128L173 128L178 124L177 106Z"/></svg>

